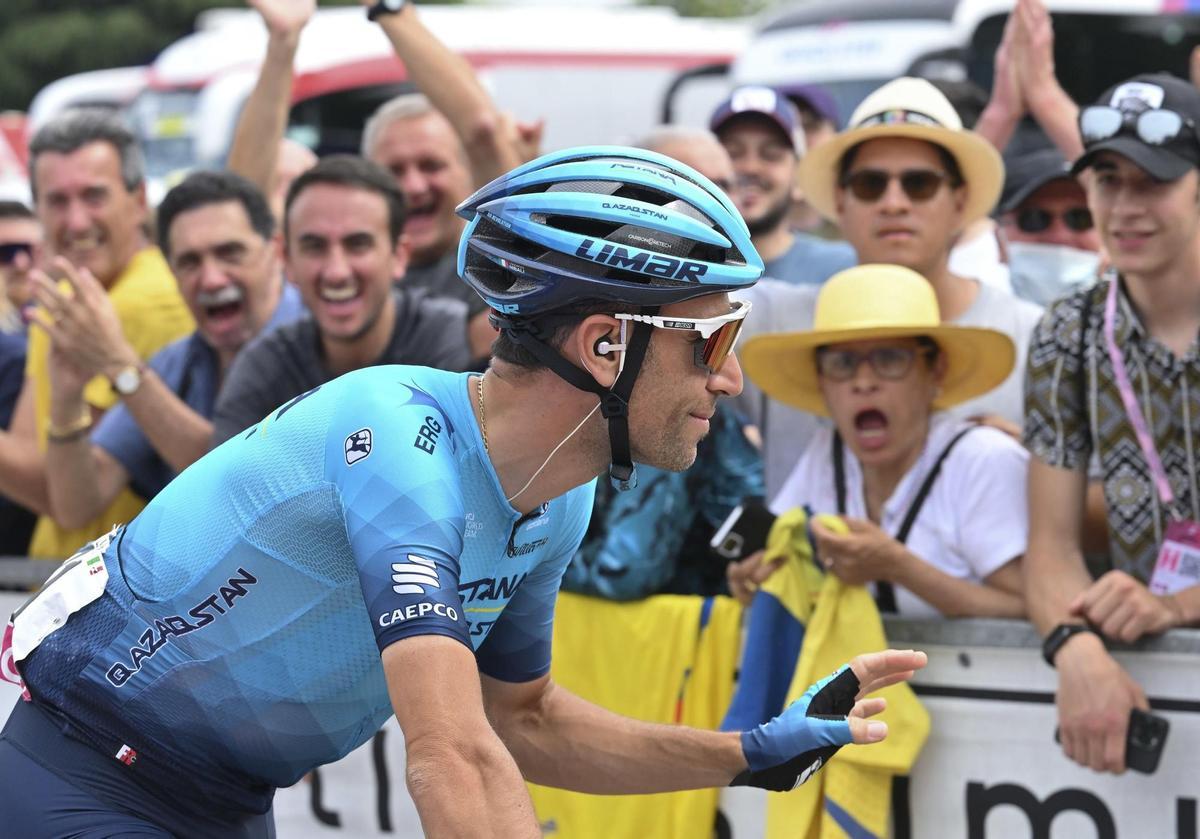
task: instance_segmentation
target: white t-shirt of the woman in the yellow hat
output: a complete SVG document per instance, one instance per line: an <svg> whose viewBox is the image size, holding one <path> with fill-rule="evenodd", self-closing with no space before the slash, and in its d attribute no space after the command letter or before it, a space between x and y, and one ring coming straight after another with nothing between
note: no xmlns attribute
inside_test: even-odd
<svg viewBox="0 0 1200 839"><path fill-rule="evenodd" d="M925 449L883 504L880 526L895 534L950 439L967 424L934 414ZM833 431L821 429L800 456L770 509L784 513L808 504L816 513L836 513ZM850 447L845 451L846 515L866 519L863 471ZM1030 525L1025 477L1028 453L1008 435L989 427L967 432L942 463L906 546L935 568L960 580L982 582L1004 563L1025 553ZM912 592L895 586L896 610L910 617L940 617Z"/></svg>

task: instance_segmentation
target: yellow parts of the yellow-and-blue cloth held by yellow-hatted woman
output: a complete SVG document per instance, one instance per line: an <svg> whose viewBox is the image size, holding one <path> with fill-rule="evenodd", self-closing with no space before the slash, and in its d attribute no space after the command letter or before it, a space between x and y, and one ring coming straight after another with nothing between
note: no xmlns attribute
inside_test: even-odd
<svg viewBox="0 0 1200 839"><path fill-rule="evenodd" d="M839 532L836 516L820 516ZM784 552L784 565L763 583L805 624L800 660L796 665L787 702L859 653L887 648L883 622L870 593L845 586L812 563L804 510L791 510L776 520L768 539L768 556ZM888 738L871 745L847 745L805 785L786 795L770 796L767 804L768 839L842 839L848 837L829 813L844 810L865 831L886 837L892 804L892 777L905 774L929 736L929 713L907 684L878 691L888 708L877 719L888 724Z"/></svg>

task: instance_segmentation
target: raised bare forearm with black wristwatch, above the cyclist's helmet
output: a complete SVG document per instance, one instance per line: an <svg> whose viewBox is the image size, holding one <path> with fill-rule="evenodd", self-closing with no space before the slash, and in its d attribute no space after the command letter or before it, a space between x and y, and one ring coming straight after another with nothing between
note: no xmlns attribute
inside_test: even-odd
<svg viewBox="0 0 1200 839"><path fill-rule="evenodd" d="M364 0L370 6L371 0ZM379 18L418 90L454 126L470 160L476 185L498 178L524 161L514 125L496 108L475 71L421 23L413 4Z"/></svg>

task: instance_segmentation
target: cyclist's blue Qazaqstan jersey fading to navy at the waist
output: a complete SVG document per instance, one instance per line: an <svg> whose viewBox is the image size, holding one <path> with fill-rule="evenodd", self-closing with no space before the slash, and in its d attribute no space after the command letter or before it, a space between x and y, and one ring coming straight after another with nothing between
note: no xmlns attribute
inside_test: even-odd
<svg viewBox="0 0 1200 839"><path fill-rule="evenodd" d="M594 485L518 515L468 384L360 370L191 466L109 546L103 595L23 661L35 700L173 801L263 813L388 718L395 641L546 673Z"/></svg>

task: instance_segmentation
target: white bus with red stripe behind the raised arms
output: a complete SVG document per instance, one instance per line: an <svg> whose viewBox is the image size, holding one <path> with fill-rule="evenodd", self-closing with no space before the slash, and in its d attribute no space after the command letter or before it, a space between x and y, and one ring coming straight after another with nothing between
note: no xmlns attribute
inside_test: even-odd
<svg viewBox="0 0 1200 839"><path fill-rule="evenodd" d="M497 104L546 118L545 146L619 142L673 115L703 124L726 89L725 67L749 43L746 20L682 18L673 10L596 6L422 6L421 19L476 68ZM130 115L146 154L151 197L228 154L257 78L266 31L256 12L222 11L168 47ZM383 31L359 7L323 8L296 52L289 134L318 154L358 151L366 118L409 90Z"/></svg>

